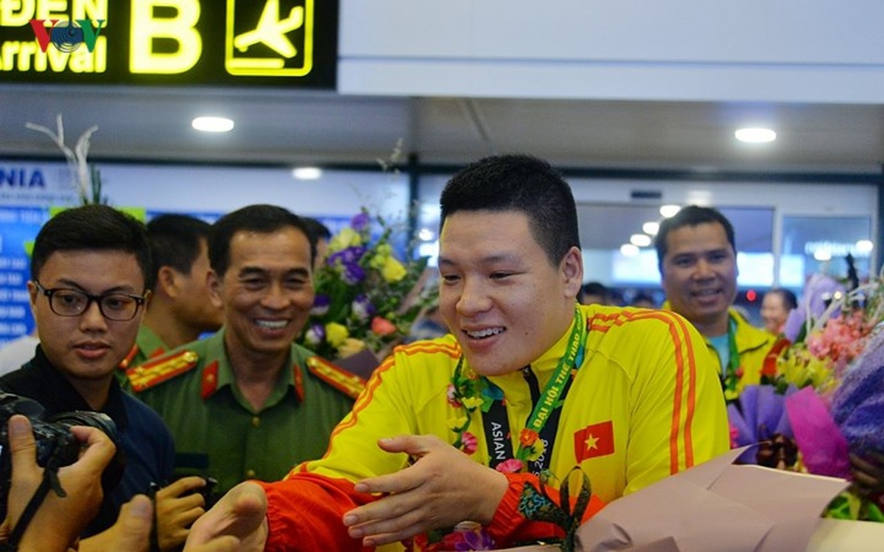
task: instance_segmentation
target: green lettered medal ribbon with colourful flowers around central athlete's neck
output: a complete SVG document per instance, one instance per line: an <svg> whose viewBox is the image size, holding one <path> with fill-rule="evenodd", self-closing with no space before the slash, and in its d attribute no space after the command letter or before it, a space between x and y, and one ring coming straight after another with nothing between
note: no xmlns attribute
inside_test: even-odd
<svg viewBox="0 0 884 552"><path fill-rule="evenodd" d="M514 455L512 454L510 438L505 439L508 449L506 456L518 462L518 466L515 466L513 462L499 460L499 458L495 462L496 455L495 450L492 450L494 446L492 435L488 432L488 427L486 427L485 440L489 448L488 453L492 467L496 467L499 471L521 471L522 467L525 466L532 456L537 457L543 452L542 448L538 450L538 447L542 447L542 443L538 443L540 432L544 430L547 422L552 418L555 419L554 425L558 426L558 416L553 416L553 413L564 402L565 396L568 393L569 383L572 380L572 372L583 363L587 335L583 313L579 306L575 306L575 323L571 329L570 336L568 336L568 346L565 354L559 359L559 364L555 367L549 382L546 383L543 393L535 400L534 408L525 423L525 428L522 429L519 435L519 448ZM466 411L465 417L449 420L449 427L458 436L457 440L453 443L454 446L468 454L475 452L476 437L470 434L467 429L472 421L473 413L476 412L476 408L481 408L482 412L489 412L492 410L492 406L496 406L495 410L504 412L502 418L498 416L499 425L505 428L505 434L508 433L509 423L503 399L503 392L486 377L469 377L463 374L463 356L461 355L457 367L454 368L452 383L448 387L449 404L462 406ZM495 405L495 403L499 404ZM555 436L555 428L548 427L544 433L545 435L550 435L551 431L552 436L547 437L547 441L552 443L552 438ZM552 449L552 447L550 448ZM552 450L545 455L545 464L549 464L551 456Z"/></svg>

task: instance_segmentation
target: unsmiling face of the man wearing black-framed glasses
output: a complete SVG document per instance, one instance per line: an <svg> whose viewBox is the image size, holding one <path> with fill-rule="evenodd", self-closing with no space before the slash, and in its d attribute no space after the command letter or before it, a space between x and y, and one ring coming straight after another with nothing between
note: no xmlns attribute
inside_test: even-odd
<svg viewBox="0 0 884 552"><path fill-rule="evenodd" d="M144 276L135 255L123 251L57 251L47 258L37 279L48 290L67 288L91 295L144 292ZM78 316L59 316L34 282L27 283L27 291L40 345L52 366L75 388L80 382L110 380L132 349L144 307L129 321L107 320L95 301Z"/></svg>

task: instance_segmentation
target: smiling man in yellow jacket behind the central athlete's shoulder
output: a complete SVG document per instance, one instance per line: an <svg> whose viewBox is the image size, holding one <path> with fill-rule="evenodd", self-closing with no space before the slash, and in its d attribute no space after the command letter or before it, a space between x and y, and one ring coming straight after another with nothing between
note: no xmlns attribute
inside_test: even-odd
<svg viewBox="0 0 884 552"><path fill-rule="evenodd" d="M725 398L735 400L746 385L760 382L777 340L733 307L734 227L717 209L690 205L660 223L654 245L667 296L663 308L682 314L705 337L719 361Z"/></svg>

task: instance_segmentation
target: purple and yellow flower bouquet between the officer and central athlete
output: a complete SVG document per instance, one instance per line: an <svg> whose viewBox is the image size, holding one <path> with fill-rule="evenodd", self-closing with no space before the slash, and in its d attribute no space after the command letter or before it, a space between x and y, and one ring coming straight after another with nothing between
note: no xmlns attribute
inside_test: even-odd
<svg viewBox="0 0 884 552"><path fill-rule="evenodd" d="M372 223L380 228L377 238ZM325 359L366 350L383 358L435 304L435 290L423 289L429 258L400 261L392 236L392 226L363 208L331 238L328 259L314 275L316 299L300 344Z"/></svg>

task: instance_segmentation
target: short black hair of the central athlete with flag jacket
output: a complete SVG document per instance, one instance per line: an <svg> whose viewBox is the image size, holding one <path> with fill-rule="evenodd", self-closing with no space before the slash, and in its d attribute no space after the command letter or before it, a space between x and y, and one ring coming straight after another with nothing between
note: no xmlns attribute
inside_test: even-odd
<svg viewBox="0 0 884 552"><path fill-rule="evenodd" d="M471 163L445 186L441 223L458 211L519 211L553 266L580 248L571 187L549 163L530 155L493 155Z"/></svg>

